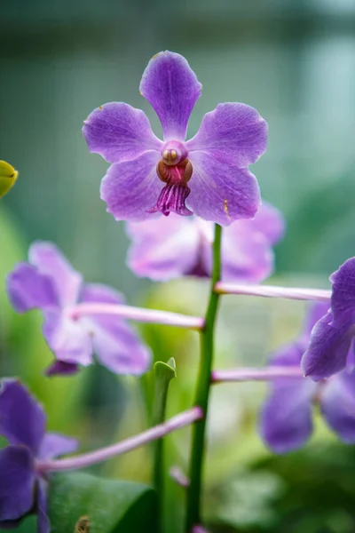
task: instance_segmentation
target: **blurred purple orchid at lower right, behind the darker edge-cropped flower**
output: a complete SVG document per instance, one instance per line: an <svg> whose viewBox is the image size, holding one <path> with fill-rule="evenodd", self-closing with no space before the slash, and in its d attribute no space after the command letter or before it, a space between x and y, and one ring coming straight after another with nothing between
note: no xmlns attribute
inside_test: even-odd
<svg viewBox="0 0 355 533"><path fill-rule="evenodd" d="M315 322L327 304L312 306L304 334L272 357L276 366L299 365ZM260 417L260 433L275 453L300 448L312 434L312 404L346 443L355 443L355 374L346 370L315 383L311 378L276 378Z"/></svg>

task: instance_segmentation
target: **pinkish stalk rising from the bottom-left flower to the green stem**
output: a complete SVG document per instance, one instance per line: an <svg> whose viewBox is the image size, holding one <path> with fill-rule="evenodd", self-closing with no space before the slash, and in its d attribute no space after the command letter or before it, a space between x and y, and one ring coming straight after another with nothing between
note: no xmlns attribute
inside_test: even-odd
<svg viewBox="0 0 355 533"><path fill-rule="evenodd" d="M61 470L77 470L85 466L96 465L102 463L107 459L127 453L131 449L139 448L148 442L162 439L163 436L170 434L181 427L189 426L203 418L203 412L200 407L193 407L176 417L166 420L159 426L151 427L141 434L125 439L121 442L116 442L112 446L106 448L96 449L90 453L83 453L75 457L68 457L67 459L52 459L46 461L38 461L36 463L37 472L59 472Z"/></svg>

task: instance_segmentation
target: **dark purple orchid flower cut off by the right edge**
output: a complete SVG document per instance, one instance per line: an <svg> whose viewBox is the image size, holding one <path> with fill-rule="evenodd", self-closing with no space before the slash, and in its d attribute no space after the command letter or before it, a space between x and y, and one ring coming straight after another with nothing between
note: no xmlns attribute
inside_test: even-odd
<svg viewBox="0 0 355 533"><path fill-rule="evenodd" d="M301 367L314 381L355 366L355 258L330 276L330 309L315 324Z"/></svg>

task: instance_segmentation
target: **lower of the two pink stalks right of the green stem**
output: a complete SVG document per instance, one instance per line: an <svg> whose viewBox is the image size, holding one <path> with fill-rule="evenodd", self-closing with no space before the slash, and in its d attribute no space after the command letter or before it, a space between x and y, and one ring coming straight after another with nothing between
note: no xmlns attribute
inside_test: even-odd
<svg viewBox="0 0 355 533"><path fill-rule="evenodd" d="M269 381L276 378L304 378L299 366L265 368L213 370L212 383L224 383L228 381Z"/></svg>

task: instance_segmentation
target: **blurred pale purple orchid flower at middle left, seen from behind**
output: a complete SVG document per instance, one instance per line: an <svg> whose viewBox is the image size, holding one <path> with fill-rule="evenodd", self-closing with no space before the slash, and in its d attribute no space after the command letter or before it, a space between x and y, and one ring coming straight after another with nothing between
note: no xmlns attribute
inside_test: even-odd
<svg viewBox="0 0 355 533"><path fill-rule="evenodd" d="M39 308L43 312L43 336L55 354L48 374L70 374L87 366L95 352L108 370L139 375L148 369L150 351L130 326L115 316L75 316L76 303L122 304L122 295L100 284L83 284L76 272L51 243L34 243L29 263L20 263L7 278L7 292L19 313Z"/></svg>

